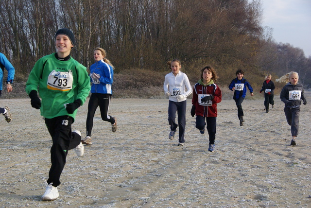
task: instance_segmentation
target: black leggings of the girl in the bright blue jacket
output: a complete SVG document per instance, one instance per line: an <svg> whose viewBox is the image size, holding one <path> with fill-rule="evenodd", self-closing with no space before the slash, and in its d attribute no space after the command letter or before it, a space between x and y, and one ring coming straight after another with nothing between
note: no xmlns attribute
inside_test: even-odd
<svg viewBox="0 0 311 208"><path fill-rule="evenodd" d="M109 105L110 105L110 94L102 94L102 93L92 93L91 97L88 101L88 111L86 118L86 136L91 136L92 128L93 128L93 119L95 115L95 111L99 106L101 111L101 116L103 121L109 121L111 124L115 123L115 120L112 116L108 115Z"/></svg>

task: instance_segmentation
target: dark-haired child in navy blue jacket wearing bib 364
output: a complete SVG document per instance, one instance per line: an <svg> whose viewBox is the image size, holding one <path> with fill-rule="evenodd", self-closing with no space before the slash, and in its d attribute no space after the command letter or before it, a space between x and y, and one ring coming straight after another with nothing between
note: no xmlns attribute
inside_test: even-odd
<svg viewBox="0 0 311 208"><path fill-rule="evenodd" d="M253 88L247 82L246 79L243 78L244 71L242 69L238 69L236 71L237 78L233 79L229 85L229 89L234 91L233 99L238 107L238 117L240 120L240 126L244 124L244 113L242 109L242 102L246 96L246 87L248 87L248 90L251 93L251 96L254 96L253 94Z"/></svg>

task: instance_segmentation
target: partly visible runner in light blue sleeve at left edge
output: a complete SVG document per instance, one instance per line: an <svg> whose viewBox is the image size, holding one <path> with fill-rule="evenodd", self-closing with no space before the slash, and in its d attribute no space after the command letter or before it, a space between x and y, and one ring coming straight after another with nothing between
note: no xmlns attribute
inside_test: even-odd
<svg viewBox="0 0 311 208"><path fill-rule="evenodd" d="M3 82L3 73L4 73L4 68L8 71L8 76L6 79L6 90L7 92L12 92L12 83L14 80L14 75L15 75L15 69L12 66L12 64L9 62L9 60L5 57L3 53L0 53L0 97L1 97L1 92L2 92L2 82ZM0 113L5 118L5 121L11 122L12 121L12 114L10 113L9 107L5 106L3 108L0 107Z"/></svg>

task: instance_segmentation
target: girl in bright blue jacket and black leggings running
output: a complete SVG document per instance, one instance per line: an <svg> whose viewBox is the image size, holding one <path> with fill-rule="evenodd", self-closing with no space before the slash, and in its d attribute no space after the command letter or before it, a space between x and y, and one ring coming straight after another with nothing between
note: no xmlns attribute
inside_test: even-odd
<svg viewBox="0 0 311 208"><path fill-rule="evenodd" d="M113 66L105 58L106 51L102 48L94 49L95 63L90 67L90 77L92 82L91 97L88 102L86 118L86 138L82 140L84 144L92 144L91 132L95 111L99 106L103 121L111 123L112 132L117 131L117 121L108 115L110 99L112 95L111 85L113 82Z"/></svg>

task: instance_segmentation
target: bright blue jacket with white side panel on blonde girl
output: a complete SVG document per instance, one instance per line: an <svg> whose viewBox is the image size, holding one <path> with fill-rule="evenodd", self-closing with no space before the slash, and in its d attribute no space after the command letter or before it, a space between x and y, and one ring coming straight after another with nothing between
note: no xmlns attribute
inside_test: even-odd
<svg viewBox="0 0 311 208"><path fill-rule="evenodd" d="M99 80L91 78L93 82L91 87L91 93L111 94L111 85L113 82L113 68L109 66L104 60L95 62L90 67L91 74L97 73L101 77Z"/></svg>

